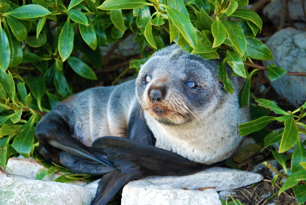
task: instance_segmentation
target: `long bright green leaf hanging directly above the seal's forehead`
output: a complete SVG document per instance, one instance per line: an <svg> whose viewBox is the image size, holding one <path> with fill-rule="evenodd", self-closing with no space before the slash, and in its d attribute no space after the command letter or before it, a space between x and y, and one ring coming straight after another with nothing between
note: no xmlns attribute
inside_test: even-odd
<svg viewBox="0 0 306 205"><path fill-rule="evenodd" d="M188 44L197 49L197 37L196 30L190 22L189 18L186 17L180 11L173 9L169 6L162 5L165 9L167 9L168 17L174 23L174 25L178 28L181 34L184 36L185 40Z"/></svg>

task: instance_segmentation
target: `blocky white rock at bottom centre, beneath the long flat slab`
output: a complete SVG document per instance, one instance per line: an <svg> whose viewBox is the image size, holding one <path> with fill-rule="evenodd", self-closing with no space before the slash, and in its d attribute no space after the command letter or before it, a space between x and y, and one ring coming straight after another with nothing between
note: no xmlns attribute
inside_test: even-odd
<svg viewBox="0 0 306 205"><path fill-rule="evenodd" d="M121 205L221 205L214 189L204 191L175 189L164 184L155 186L144 180L131 181L123 188Z"/></svg>

